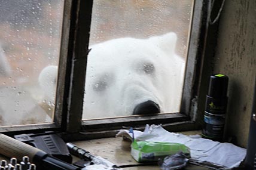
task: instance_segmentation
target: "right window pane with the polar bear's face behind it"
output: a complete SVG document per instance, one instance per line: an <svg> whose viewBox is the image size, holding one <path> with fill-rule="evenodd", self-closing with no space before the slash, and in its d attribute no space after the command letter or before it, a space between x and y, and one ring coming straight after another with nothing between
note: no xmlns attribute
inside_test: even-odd
<svg viewBox="0 0 256 170"><path fill-rule="evenodd" d="M179 112L193 4L94 1L83 119Z"/></svg>

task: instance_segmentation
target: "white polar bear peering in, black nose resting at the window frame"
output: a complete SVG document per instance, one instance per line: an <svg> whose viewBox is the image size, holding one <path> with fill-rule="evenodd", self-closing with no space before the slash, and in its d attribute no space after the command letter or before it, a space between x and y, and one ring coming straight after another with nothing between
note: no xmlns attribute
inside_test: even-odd
<svg viewBox="0 0 256 170"><path fill-rule="evenodd" d="M90 46L83 119L179 112L185 60L175 54L176 39L171 32ZM49 72L56 73L51 70L39 76L42 89L56 80L55 75L47 82L42 79L49 79Z"/></svg>

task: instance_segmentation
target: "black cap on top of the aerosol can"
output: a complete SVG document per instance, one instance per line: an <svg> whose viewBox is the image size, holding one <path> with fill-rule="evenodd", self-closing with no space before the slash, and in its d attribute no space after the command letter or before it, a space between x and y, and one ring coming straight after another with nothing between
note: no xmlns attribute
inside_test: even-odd
<svg viewBox="0 0 256 170"><path fill-rule="evenodd" d="M208 96L214 98L227 97L228 77L222 74L211 75Z"/></svg>

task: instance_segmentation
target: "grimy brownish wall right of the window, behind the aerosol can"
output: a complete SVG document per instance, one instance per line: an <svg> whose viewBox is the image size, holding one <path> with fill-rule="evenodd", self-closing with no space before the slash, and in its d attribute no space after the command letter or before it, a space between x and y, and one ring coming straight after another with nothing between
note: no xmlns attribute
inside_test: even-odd
<svg viewBox="0 0 256 170"><path fill-rule="evenodd" d="M220 18L214 73L229 77L226 135L247 146L256 78L256 1L226 0Z"/></svg>

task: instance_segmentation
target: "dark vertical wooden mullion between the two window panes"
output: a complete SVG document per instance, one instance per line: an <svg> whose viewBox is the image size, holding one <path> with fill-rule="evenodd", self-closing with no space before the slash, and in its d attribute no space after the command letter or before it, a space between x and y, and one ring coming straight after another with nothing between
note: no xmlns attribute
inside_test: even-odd
<svg viewBox="0 0 256 170"><path fill-rule="evenodd" d="M81 128L81 116L83 110L84 82L86 79L86 61L89 46L90 20L92 16L92 0L73 1L77 5L75 16L74 41L72 47L70 66L70 84L67 101L66 131L78 132ZM74 8L73 8L74 9ZM74 11L73 11L74 12ZM72 18L74 19L74 18ZM72 41L72 40L71 40ZM69 44L72 42L69 41ZM71 49L69 49L71 50ZM65 99L65 98L64 98ZM64 126L65 123L62 123Z"/></svg>

